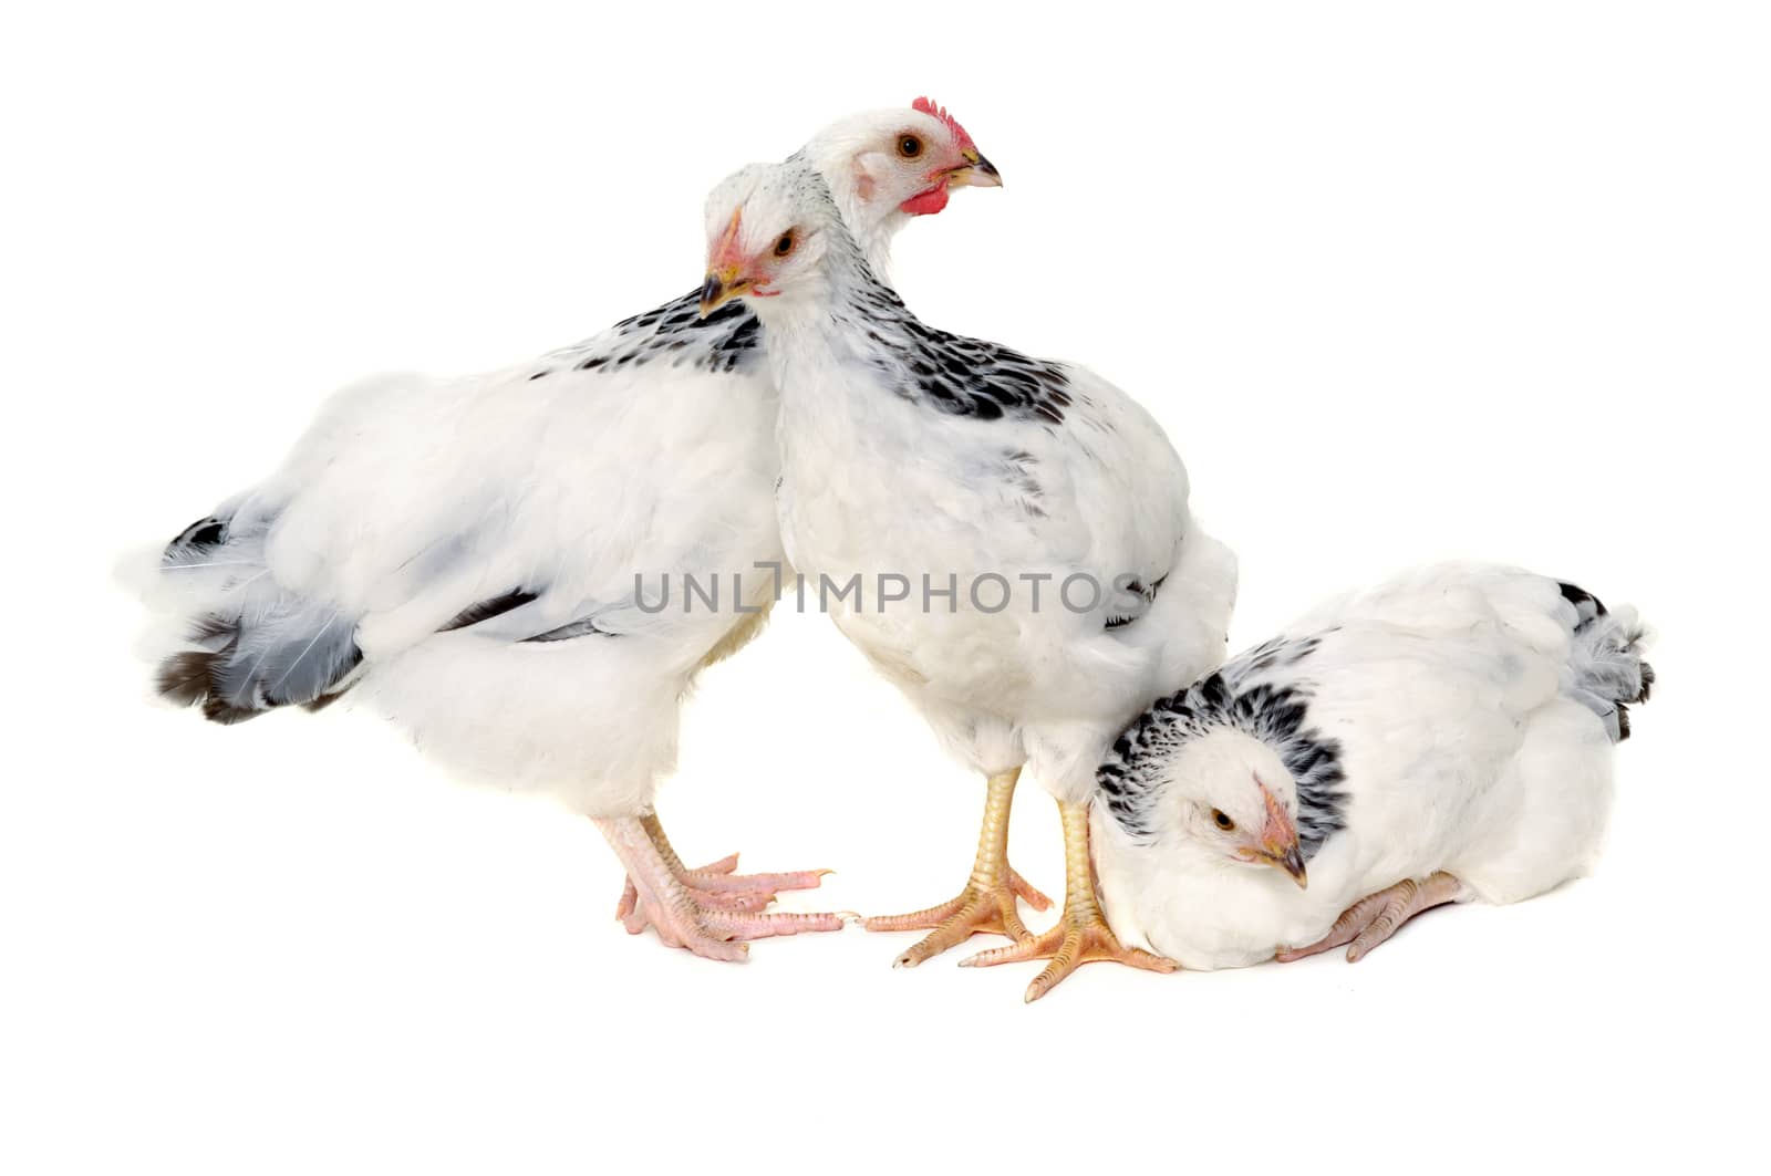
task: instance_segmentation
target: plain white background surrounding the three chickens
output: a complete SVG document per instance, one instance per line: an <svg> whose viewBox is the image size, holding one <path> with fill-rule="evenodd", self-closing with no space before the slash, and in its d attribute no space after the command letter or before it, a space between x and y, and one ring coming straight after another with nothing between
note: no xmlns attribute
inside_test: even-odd
<svg viewBox="0 0 1771 1176"><path fill-rule="evenodd" d="M0 1167L1753 1164L1762 9L609 7L4 18ZM581 818L363 717L147 705L126 547L347 379L689 289L719 177L924 90L1008 186L905 232L907 299L1156 413L1241 553L1238 648L1442 556L1642 607L1661 687L1596 877L1358 967L1022 1006L1032 967L894 972L909 937L629 939ZM839 870L790 905L889 912L958 887L981 799L783 615L707 675L662 813L692 857ZM1056 896L1036 786L1013 832Z"/></svg>

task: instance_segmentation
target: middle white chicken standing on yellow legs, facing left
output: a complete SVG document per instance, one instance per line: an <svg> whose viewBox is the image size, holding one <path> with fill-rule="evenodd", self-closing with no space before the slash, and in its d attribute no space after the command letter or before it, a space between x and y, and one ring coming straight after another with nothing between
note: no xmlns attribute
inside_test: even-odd
<svg viewBox="0 0 1771 1176"><path fill-rule="evenodd" d="M721 184L708 237L701 312L747 299L781 388L788 558L990 779L963 893L868 928L933 928L901 965L1004 932L1018 942L971 962L1050 958L1029 1001L1091 958L1172 967L1114 940L1087 845L1100 756L1167 684L1222 659L1234 597L1234 560L1194 524L1162 429L1086 368L919 322L802 163ZM1064 914L1040 937L1006 866L1022 765L1064 822Z"/></svg>

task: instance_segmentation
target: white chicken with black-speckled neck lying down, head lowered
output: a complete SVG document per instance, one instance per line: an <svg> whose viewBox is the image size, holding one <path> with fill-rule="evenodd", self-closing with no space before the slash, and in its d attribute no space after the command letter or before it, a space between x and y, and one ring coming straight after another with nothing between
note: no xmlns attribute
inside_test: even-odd
<svg viewBox="0 0 1771 1176"><path fill-rule="evenodd" d="M1481 565L1311 613L1156 701L1102 763L1112 926L1197 969L1275 944L1358 960L1429 907L1576 877L1654 682L1640 641L1629 609Z"/></svg>

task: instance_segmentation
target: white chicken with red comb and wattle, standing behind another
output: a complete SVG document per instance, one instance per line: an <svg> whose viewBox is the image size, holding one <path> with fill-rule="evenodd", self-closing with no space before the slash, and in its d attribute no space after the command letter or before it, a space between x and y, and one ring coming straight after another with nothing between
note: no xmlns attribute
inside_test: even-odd
<svg viewBox="0 0 1771 1176"><path fill-rule="evenodd" d="M829 175L884 264L891 236L997 172L928 99L854 115L795 159ZM818 873L687 870L652 799L678 700L772 604L774 384L756 319L696 294L485 375L383 377L335 397L282 469L166 547L177 646L159 691L236 723L349 691L464 774L597 818L629 873L620 916L721 960L834 930L760 914ZM655 600L655 584L726 588Z"/></svg>

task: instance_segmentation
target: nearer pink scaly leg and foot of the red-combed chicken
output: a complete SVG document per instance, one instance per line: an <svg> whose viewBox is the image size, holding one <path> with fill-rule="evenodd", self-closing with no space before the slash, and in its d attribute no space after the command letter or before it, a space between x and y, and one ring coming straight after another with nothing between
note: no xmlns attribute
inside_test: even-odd
<svg viewBox="0 0 1771 1176"><path fill-rule="evenodd" d="M708 960L737 962L749 955L749 944L740 942L746 939L843 928L843 919L834 914L758 914L715 907L682 884L638 816L599 820L597 827L634 882L629 930L650 923L671 948L687 948Z"/></svg>

